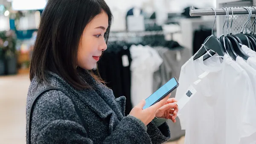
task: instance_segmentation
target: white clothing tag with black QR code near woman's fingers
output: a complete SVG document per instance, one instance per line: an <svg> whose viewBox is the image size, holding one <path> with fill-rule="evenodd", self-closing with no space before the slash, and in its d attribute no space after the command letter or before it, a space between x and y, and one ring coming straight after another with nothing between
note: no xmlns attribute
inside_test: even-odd
<svg viewBox="0 0 256 144"><path fill-rule="evenodd" d="M184 95L177 102L179 110L181 110L187 104L187 102L189 102L190 98L192 98L196 92L196 89L192 85L190 85L186 93L184 93Z"/></svg>

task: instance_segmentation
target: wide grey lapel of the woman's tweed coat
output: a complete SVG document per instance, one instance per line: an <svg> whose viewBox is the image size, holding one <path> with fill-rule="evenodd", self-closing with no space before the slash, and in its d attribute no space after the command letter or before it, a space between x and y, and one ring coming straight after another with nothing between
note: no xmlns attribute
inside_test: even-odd
<svg viewBox="0 0 256 144"><path fill-rule="evenodd" d="M58 81L64 83L64 89L71 89L73 91L73 97L79 99L82 103L90 107L90 109L99 115L100 118L110 118L110 133L124 117L125 98L118 98L115 100L113 91L103 84L96 82L89 73L83 75L82 79L92 86L93 89L84 89L81 91L74 89L58 75L54 73L51 73L51 75L57 78Z"/></svg>

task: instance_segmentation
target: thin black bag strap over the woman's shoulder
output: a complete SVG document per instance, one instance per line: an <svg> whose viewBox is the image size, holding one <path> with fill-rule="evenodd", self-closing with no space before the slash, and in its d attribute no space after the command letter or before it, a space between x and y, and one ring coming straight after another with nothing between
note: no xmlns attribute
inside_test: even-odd
<svg viewBox="0 0 256 144"><path fill-rule="evenodd" d="M38 92L38 94L35 96L35 98L33 99L32 101L32 104L30 105L29 107L29 144L31 144L31 121L32 121L32 109L33 109L33 106L35 105L35 102L38 100L38 98L44 93L44 92L48 92L50 90L59 90L61 92L63 92L65 95L68 96L67 92L64 92L62 89L59 89L59 88L55 88L55 87L47 87L46 89L43 89L41 90L40 92ZM79 110L79 108L77 107L76 103L73 101L72 98L70 98L72 103L74 104L74 108L76 110L76 113L77 115L79 116L79 118L81 119L81 122L84 126L84 129L86 130L86 133L87 133L87 137L89 137L89 130L88 130L88 127L87 127L87 124L84 120L84 117L82 116L82 113L81 111Z"/></svg>

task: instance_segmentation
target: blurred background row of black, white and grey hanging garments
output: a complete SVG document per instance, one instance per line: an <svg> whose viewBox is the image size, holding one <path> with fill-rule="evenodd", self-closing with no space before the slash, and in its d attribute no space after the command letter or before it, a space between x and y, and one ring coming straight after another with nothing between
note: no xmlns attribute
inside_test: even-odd
<svg viewBox="0 0 256 144"><path fill-rule="evenodd" d="M169 45L170 46L170 45ZM126 97L125 115L172 77L178 78L181 66L191 57L181 46L163 47L115 43L108 45L98 63L99 74L116 98ZM172 93L175 97L175 92ZM185 135L179 120L172 127L172 139Z"/></svg>

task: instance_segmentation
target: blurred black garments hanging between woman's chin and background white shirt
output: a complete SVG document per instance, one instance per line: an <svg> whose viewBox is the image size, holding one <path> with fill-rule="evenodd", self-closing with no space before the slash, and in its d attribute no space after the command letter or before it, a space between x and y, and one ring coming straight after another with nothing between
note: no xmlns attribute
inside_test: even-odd
<svg viewBox="0 0 256 144"><path fill-rule="evenodd" d="M125 96L125 115L131 112L131 55L128 46L109 45L98 63L100 76L116 98ZM123 56L125 55L125 64Z"/></svg>

